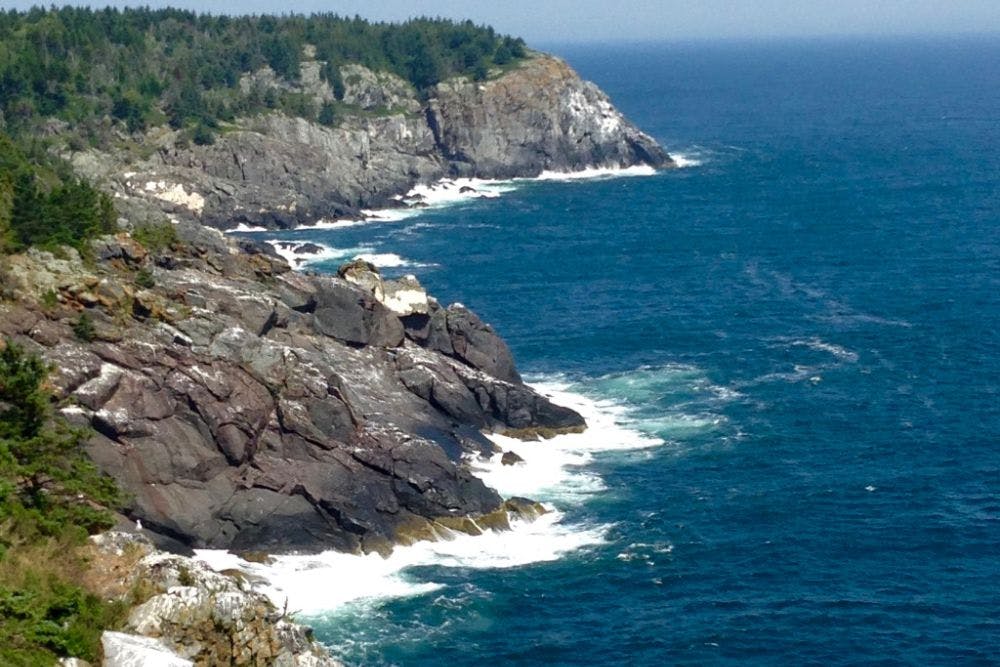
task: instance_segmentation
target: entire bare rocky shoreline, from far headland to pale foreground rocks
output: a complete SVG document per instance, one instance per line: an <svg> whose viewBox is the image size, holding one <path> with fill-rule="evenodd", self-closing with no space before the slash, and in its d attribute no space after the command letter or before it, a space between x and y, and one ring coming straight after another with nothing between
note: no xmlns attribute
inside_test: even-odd
<svg viewBox="0 0 1000 667"><path fill-rule="evenodd" d="M304 61L294 84L262 71L248 85L330 101L321 65ZM128 494L122 525L143 527L95 538L109 599L146 587L125 632L105 633L106 665L334 667L245 573L179 554L387 555L502 531L545 508L476 477L479 457L521 465L484 434L543 447L587 426L524 384L492 327L416 278L358 260L336 276L298 272L218 230L419 207L407 194L442 179L655 169L675 166L670 156L551 56L425 96L359 65L342 75L352 111L334 126L272 113L210 145L156 128L127 138L138 150L68 153L134 234L83 256L3 259L0 336L52 366L61 414L91 429L87 453ZM140 242L143 229L160 231Z"/></svg>

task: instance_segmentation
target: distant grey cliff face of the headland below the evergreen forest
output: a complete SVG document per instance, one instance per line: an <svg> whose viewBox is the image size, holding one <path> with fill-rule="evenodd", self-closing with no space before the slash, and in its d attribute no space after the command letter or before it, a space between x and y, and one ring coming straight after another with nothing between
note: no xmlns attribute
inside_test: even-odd
<svg viewBox="0 0 1000 667"><path fill-rule="evenodd" d="M296 90L331 101L317 63L302 68ZM401 79L359 65L342 77L343 110L331 127L271 114L189 147L160 129L144 138L146 159L83 153L74 163L113 189L126 211L152 205L221 229L358 215L443 177L673 164L596 86L551 56L488 81L441 83L426 101ZM288 86L267 72L246 83Z"/></svg>

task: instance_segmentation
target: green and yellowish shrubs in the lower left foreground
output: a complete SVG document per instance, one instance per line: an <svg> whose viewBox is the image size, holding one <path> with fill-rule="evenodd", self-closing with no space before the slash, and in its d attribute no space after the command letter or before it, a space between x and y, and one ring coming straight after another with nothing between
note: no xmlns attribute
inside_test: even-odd
<svg viewBox="0 0 1000 667"><path fill-rule="evenodd" d="M0 349L0 664L98 657L100 634L124 613L84 589L79 547L113 525L121 496L83 454L84 433L54 418L48 369L23 348Z"/></svg>

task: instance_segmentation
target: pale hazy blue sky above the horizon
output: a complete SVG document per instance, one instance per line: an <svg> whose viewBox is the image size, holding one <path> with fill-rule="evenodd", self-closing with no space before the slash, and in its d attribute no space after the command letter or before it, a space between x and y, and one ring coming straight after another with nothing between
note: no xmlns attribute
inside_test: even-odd
<svg viewBox="0 0 1000 667"><path fill-rule="evenodd" d="M1000 33L1000 0L55 0L64 2L211 13L336 12L392 21L414 15L470 18L529 44ZM39 0L0 4L24 9Z"/></svg>

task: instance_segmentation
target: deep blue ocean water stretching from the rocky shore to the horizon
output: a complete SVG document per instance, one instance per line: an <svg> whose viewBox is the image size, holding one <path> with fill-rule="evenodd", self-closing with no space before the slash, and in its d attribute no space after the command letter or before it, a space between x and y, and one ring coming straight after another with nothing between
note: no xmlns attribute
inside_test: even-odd
<svg viewBox="0 0 1000 667"><path fill-rule="evenodd" d="M700 164L285 236L388 256L663 442L556 501L603 542L411 568L440 587L319 637L372 665L1000 661L1000 39L557 51Z"/></svg>

